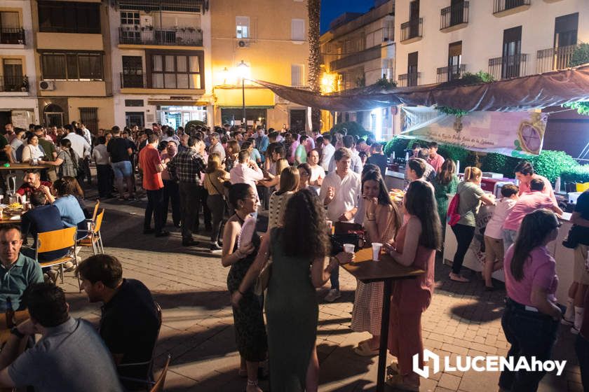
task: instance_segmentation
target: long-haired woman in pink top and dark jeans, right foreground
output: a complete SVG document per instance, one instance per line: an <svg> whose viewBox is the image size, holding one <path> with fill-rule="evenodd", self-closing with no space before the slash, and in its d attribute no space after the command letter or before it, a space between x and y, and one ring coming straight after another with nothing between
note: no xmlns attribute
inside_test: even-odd
<svg viewBox="0 0 589 392"><path fill-rule="evenodd" d="M532 363L549 360L562 311L554 293L558 285L556 262L546 245L558 236L560 223L548 209L525 216L515 244L505 255L506 308L501 326L511 344L507 356ZM511 372L499 377L501 390L536 391L545 372Z"/></svg>

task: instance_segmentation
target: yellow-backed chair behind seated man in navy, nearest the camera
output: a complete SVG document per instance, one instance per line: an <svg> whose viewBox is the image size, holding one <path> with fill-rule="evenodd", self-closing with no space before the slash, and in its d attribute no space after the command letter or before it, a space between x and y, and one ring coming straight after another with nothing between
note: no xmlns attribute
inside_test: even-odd
<svg viewBox="0 0 589 392"><path fill-rule="evenodd" d="M61 281L63 283L63 265L71 261L76 266L76 278L78 279L78 288L82 290L80 276L77 272L78 261L76 260L76 226L72 228L65 228L60 230L53 230L52 232L43 232L37 235L35 260L39 262L41 267L60 266ZM58 251L63 248L72 248L69 253L63 257L50 261L39 261L39 253Z"/></svg>

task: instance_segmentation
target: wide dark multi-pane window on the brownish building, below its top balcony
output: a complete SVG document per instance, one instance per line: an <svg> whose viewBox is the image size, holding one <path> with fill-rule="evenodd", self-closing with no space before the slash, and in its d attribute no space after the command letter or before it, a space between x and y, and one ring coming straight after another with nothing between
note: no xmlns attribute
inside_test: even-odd
<svg viewBox="0 0 589 392"><path fill-rule="evenodd" d="M43 79L103 80L100 52L43 52Z"/></svg>

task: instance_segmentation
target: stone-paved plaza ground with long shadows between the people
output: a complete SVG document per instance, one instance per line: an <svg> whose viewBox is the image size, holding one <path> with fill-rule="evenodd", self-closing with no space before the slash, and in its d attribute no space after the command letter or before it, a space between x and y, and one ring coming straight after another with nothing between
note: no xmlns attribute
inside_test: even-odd
<svg viewBox="0 0 589 392"><path fill-rule="evenodd" d="M91 197L87 200L90 205ZM228 269L222 267L220 255L212 255L205 248L182 247L178 230L168 238L142 235L144 204L103 202L107 211L102 234L105 251L121 260L124 276L143 281L163 308L156 367L161 369L165 356L172 355L165 390L243 391L245 379L237 375L239 356L226 292ZM196 238L208 244L205 237ZM82 255L89 254L91 251L84 250ZM435 293L423 317L426 348L452 357L505 355L508 344L501 329L504 291L483 291L482 281L474 275L473 283L449 281L448 272L449 267L438 263ZM67 290L72 313L97 321L100 308L88 304L86 295L78 293L75 279L69 275L62 286ZM341 299L320 304L320 391L374 391L377 358L353 353L353 347L366 339L367 333L348 328L356 281L343 269L340 279ZM319 297L327 288L318 290ZM564 326L560 328L554 359L567 360L566 371L561 377L547 374L539 391L582 391L574 337ZM421 391L497 391L498 379L498 372L440 372L422 378ZM260 386L268 391L267 381Z"/></svg>

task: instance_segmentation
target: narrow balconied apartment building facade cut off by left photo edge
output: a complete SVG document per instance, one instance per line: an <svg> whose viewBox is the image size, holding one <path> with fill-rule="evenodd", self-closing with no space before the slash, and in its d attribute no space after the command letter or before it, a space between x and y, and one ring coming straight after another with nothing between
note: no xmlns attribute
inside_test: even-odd
<svg viewBox="0 0 589 392"><path fill-rule="evenodd" d="M34 33L29 0L0 4L0 124L39 121Z"/></svg>

